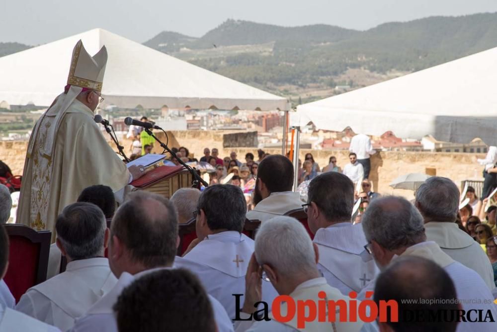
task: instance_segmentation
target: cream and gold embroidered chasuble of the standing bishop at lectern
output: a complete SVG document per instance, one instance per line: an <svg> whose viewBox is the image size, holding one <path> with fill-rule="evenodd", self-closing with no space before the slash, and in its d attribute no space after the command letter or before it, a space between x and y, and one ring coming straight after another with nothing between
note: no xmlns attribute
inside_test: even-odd
<svg viewBox="0 0 497 332"><path fill-rule="evenodd" d="M52 155L44 153L46 146L51 145L48 132L55 125L57 110L65 97L59 96L35 125L29 141L33 149L24 162L17 209L18 223L51 230L52 242L57 216L76 202L84 188L101 184L116 192L128 184L130 176L93 121L93 112L78 100L74 100L56 128Z"/></svg>

